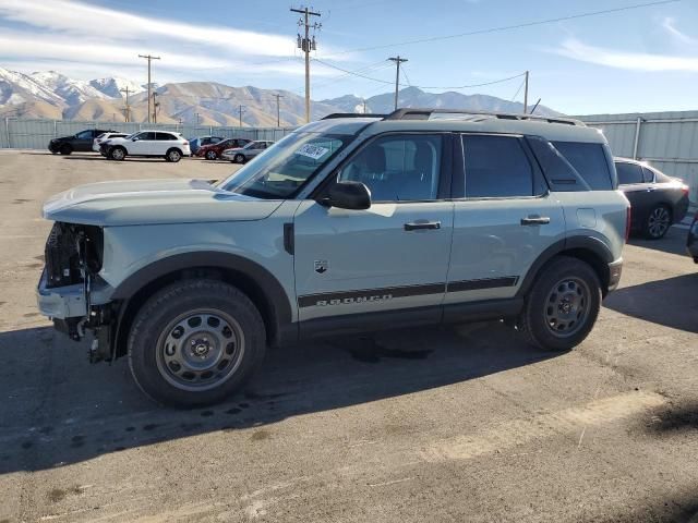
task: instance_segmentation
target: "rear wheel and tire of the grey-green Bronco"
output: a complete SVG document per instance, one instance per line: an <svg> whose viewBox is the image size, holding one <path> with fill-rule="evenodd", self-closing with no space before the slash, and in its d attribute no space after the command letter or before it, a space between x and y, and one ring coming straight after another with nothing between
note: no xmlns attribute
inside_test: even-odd
<svg viewBox="0 0 698 523"><path fill-rule="evenodd" d="M540 270L517 321L526 341L569 351L589 335L601 307L601 283L580 259L555 256Z"/></svg>

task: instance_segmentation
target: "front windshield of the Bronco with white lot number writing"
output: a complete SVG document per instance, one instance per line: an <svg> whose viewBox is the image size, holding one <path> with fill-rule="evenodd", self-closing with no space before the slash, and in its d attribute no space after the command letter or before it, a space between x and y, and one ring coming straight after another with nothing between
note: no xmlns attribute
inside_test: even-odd
<svg viewBox="0 0 698 523"><path fill-rule="evenodd" d="M265 199L286 199L350 141L350 135L292 133L269 146L218 186Z"/></svg>

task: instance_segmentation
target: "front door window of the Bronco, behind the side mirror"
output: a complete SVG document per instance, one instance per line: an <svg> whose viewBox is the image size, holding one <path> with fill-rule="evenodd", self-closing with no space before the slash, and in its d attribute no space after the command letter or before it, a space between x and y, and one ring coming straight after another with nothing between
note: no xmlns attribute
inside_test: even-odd
<svg viewBox="0 0 698 523"><path fill-rule="evenodd" d="M339 173L339 181L361 182L374 202L436 199L442 137L390 135L375 139Z"/></svg>

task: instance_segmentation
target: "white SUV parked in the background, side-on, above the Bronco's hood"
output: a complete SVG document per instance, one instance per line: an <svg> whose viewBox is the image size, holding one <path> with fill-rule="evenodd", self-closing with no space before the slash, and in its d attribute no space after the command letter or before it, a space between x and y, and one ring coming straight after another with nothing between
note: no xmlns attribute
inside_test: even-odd
<svg viewBox="0 0 698 523"><path fill-rule="evenodd" d="M140 131L124 138L107 139L99 151L110 160L123 160L127 156L157 156L178 162L182 156L191 156L189 141L170 131Z"/></svg>

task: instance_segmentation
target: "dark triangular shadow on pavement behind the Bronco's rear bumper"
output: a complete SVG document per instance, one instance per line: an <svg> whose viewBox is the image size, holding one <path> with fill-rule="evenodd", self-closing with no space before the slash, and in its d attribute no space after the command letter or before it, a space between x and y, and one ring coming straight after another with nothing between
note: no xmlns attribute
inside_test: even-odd
<svg viewBox="0 0 698 523"><path fill-rule="evenodd" d="M618 313L698 332L698 272L618 289L603 305Z"/></svg>

